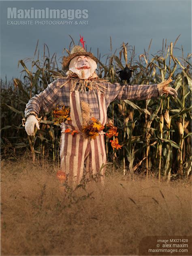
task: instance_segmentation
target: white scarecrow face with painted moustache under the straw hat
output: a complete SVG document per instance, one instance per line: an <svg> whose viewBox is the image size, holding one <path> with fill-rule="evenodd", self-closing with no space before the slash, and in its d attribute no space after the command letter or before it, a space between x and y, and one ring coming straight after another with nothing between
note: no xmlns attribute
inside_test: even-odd
<svg viewBox="0 0 192 256"><path fill-rule="evenodd" d="M87 79L92 76L96 68L96 62L85 55L74 57L69 64L69 70L76 73L81 79Z"/></svg>

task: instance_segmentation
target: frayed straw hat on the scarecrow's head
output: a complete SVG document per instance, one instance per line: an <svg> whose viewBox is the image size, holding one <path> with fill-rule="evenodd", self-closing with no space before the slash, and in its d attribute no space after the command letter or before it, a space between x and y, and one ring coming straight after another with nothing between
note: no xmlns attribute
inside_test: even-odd
<svg viewBox="0 0 192 256"><path fill-rule="evenodd" d="M85 51L85 49L84 49L83 47L81 47L80 45L74 45L73 48L71 49L70 55L63 57L62 68L63 68L64 70L67 70L70 61L71 61L74 57L80 56L80 55L88 55L88 56L90 56L90 58L92 58L96 63L98 63L98 59L93 55L93 53L91 53L91 52L89 52L89 51Z"/></svg>

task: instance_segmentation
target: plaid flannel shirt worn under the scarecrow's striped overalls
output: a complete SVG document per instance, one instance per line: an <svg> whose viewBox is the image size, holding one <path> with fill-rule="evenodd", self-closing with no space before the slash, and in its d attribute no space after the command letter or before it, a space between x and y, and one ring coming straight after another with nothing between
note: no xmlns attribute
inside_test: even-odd
<svg viewBox="0 0 192 256"><path fill-rule="evenodd" d="M26 105L25 117L31 113L38 114L40 111L49 112L57 105L65 105L70 107L70 88L69 84L60 88L66 80L64 78L57 79L50 83L47 88L40 94L34 95ZM151 85L120 85L119 83L101 82L105 84L104 96L106 108L114 100L144 100L150 98L158 98L158 84ZM99 118L99 103L97 93L92 91L80 92L81 101L87 102L93 112L95 118Z"/></svg>

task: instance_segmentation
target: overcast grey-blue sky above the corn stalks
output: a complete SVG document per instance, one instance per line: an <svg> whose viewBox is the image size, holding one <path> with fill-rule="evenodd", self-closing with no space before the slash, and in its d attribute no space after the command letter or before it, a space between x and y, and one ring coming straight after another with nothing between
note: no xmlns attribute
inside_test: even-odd
<svg viewBox="0 0 192 256"><path fill-rule="evenodd" d="M71 25L7 25L7 7L17 9L87 9L87 19L74 19ZM12 21L64 21L68 19L11 19ZM76 21L88 21L75 25ZM183 45L185 56L191 52L191 1L1 1L1 77L8 79L20 77L18 60L32 57L36 42L40 50L46 43L51 53L62 56L68 47L71 35L78 44L79 34L84 36L87 49L97 55L110 52L110 36L113 50L122 42L134 46L137 56L147 50L152 40L151 54L162 49L163 38L175 42L176 47ZM176 49L175 55L181 56ZM43 54L43 51L41 51ZM61 66L61 64L60 64Z"/></svg>

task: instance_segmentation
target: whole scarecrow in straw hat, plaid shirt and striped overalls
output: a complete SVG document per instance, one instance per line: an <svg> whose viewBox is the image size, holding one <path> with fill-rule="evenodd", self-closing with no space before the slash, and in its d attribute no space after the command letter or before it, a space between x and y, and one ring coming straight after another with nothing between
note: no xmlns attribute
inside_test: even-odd
<svg viewBox="0 0 192 256"><path fill-rule="evenodd" d="M120 85L101 79L96 74L98 59L83 46L75 45L68 56L63 57L62 68L66 77L50 83L40 94L34 95L26 105L25 126L28 135L34 135L34 126L39 129L41 110L63 113L61 124L60 159L62 172L69 184L79 184L86 175L96 175L104 183L107 163L103 132L107 124L107 108L114 100L144 100L158 98L161 94L177 97L170 79L160 84ZM58 107L62 106L62 107ZM63 111L63 112L62 112ZM58 117L58 116L56 116ZM114 126L108 137L117 136ZM111 141L113 148L121 147L117 137ZM85 167L84 167L85 166Z"/></svg>

